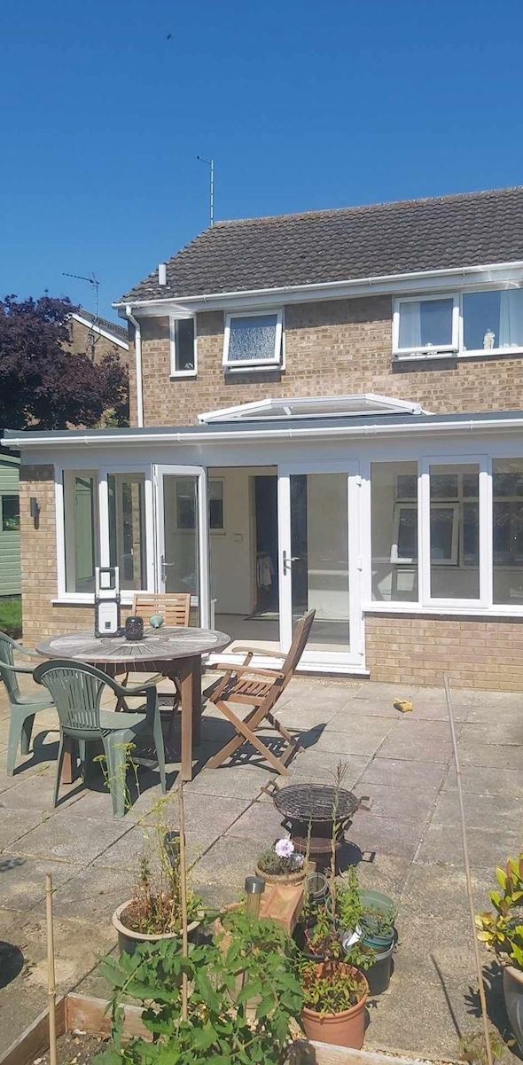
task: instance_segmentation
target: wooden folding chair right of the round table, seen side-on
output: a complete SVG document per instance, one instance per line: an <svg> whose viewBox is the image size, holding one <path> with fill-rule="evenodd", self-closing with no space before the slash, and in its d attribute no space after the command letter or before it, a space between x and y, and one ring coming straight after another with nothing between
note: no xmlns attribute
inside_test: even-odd
<svg viewBox="0 0 523 1065"><path fill-rule="evenodd" d="M211 769L217 769L218 766L222 766L244 743L251 743L278 773L285 775L289 773L287 763L301 748L296 737L292 736L277 718L274 717L273 710L281 692L284 691L296 672L299 659L309 639L314 615L315 610L309 610L298 622L291 650L280 670L265 669L264 667L258 668L249 665L254 655L264 654L271 655L274 658L274 652L257 651L254 648L235 649L236 651L247 653L245 661L242 666L228 670L214 690L211 691L209 699L231 722L236 735L208 761L207 765ZM234 714L234 710L229 705L230 703L252 706L254 709L242 720ZM273 728L276 728L280 736L288 741L288 746L279 758L256 735L256 730L264 721L268 721Z"/></svg>

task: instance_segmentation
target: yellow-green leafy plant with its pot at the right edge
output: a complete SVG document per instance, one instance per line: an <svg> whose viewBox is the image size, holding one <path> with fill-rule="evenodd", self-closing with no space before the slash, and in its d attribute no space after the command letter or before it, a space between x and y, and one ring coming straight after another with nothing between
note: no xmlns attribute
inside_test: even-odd
<svg viewBox="0 0 523 1065"><path fill-rule="evenodd" d="M523 853L495 870L500 891L490 892L492 911L476 916L477 937L503 966L503 993L512 1032L523 1052Z"/></svg>

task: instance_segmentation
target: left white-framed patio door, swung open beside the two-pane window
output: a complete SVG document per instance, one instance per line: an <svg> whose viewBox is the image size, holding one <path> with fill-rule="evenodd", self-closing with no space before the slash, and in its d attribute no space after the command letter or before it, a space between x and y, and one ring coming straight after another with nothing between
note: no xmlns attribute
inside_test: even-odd
<svg viewBox="0 0 523 1065"><path fill-rule="evenodd" d="M202 466L157 465L156 586L189 592L201 627L210 625L207 476Z"/></svg>

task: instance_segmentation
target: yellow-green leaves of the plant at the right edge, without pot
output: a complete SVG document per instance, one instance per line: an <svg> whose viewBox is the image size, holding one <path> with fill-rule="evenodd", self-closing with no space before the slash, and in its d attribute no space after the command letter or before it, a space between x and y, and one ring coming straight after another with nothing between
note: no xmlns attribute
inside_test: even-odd
<svg viewBox="0 0 523 1065"><path fill-rule="evenodd" d="M495 913L476 916L477 938L517 969L523 970L523 853L495 871L501 891L491 891Z"/></svg>

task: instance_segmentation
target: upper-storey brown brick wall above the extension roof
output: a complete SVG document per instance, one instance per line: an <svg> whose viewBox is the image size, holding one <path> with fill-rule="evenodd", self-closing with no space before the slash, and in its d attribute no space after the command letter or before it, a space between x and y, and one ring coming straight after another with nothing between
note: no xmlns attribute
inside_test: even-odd
<svg viewBox="0 0 523 1065"><path fill-rule="evenodd" d="M142 321L145 425L191 425L198 413L278 396L377 392L435 413L523 407L523 362L478 358L392 362L388 296L285 308L285 370L230 375L222 366L224 315L198 314L198 376L169 380L167 320ZM133 355L131 424L136 424Z"/></svg>

